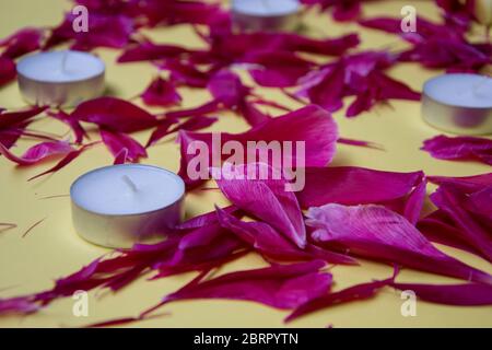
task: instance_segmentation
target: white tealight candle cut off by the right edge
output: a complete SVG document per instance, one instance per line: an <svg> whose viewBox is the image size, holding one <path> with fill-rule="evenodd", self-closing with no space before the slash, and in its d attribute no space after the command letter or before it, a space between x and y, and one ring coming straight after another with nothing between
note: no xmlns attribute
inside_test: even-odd
<svg viewBox="0 0 492 350"><path fill-rule="evenodd" d="M427 80L422 93L422 116L444 131L492 133L492 79L456 73Z"/></svg>

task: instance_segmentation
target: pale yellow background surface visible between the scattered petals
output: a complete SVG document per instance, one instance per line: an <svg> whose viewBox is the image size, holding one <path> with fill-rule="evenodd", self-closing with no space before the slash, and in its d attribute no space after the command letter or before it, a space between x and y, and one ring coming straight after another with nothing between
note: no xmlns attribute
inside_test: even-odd
<svg viewBox="0 0 492 350"><path fill-rule="evenodd" d="M364 4L367 16L399 16L400 9L408 1L383 1ZM4 37L24 26L49 26L61 21L62 11L70 3L63 0L2 0L0 2L0 37ZM437 19L437 9L432 1L415 1L419 14ZM402 47L401 40L393 35L376 31L361 30L356 24L337 24L327 14L309 12L304 18L308 35L314 37L338 36L358 31L362 38L360 49ZM477 31L482 33L482 31ZM187 25L171 28L159 28L147 32L155 42L176 43L189 47L202 45L200 39ZM479 34L477 34L479 35ZM116 65L117 50L98 49L96 52L107 65L107 84L112 95L131 98L148 85L157 71L150 63ZM415 90L421 90L423 82L440 71L424 70L417 65L398 65L390 71L391 75L403 80ZM246 80L250 82L249 79ZM206 102L209 94L204 90L180 90L184 107L191 107ZM291 107L298 107L296 102L283 96L274 89L259 89L269 100ZM139 103L139 101L134 100ZM5 108L23 107L17 86L12 83L0 90L0 106ZM152 110L152 109L151 109ZM159 110L159 109L155 109ZM272 110L273 112L273 110ZM278 112L277 112L278 113ZM422 141L441 133L424 124L420 117L420 104L415 102L396 102L377 106L371 113L358 118L347 119L343 110L335 114L341 136L363 139L380 143L386 151L339 145L332 165L356 165L376 170L410 172L423 170L429 175L465 176L490 171L487 165L471 162L446 162L431 159L419 150ZM31 126L36 130L66 135L67 127L56 120L43 119ZM241 132L248 127L242 118L224 113L220 122L210 130ZM149 132L140 132L137 139L144 142ZM32 141L21 141L13 152L21 154ZM34 182L27 182L33 175L52 165L42 164L34 167L20 168L0 158L0 222L12 222L17 228L0 233L0 298L22 295L51 288L56 278L66 276L89 264L94 258L107 253L107 249L91 245L80 238L71 224L70 198L47 196L68 195L72 182L81 174L98 166L112 164L113 159L104 145L83 153L79 159L60 172ZM161 142L149 150L145 164L163 166L172 171L178 170L178 145L173 139ZM427 189L431 191L432 186ZM214 190L195 191L187 196L187 217L210 211L213 205L225 205L222 195ZM429 202L425 210L430 210ZM22 237L35 222L45 219L28 235ZM440 246L444 252L477 268L492 272L489 262L467 253ZM373 278L385 278L391 268L372 261L361 260L360 267L336 266L331 269L336 284L340 290L354 283L365 282ZM248 255L241 260L229 264L220 273L261 267L265 262L256 255ZM128 288L112 294L96 292L90 294L90 316L72 315L73 300L68 298L54 302L40 313L27 317L0 317L0 327L66 327L81 326L109 318L134 316L140 311L159 302L163 295L175 291L189 281L195 273L187 273L147 281L141 278ZM403 270L399 281L452 283L450 278L429 273ZM293 327L431 327L431 326L492 326L492 307L452 307L418 302L415 317L402 317L400 294L386 289L375 299L349 303L317 312L289 324ZM270 307L250 302L236 301L187 301L165 306L162 312L167 315L160 318L134 324L134 326L152 327L283 327L282 319L286 315Z"/></svg>

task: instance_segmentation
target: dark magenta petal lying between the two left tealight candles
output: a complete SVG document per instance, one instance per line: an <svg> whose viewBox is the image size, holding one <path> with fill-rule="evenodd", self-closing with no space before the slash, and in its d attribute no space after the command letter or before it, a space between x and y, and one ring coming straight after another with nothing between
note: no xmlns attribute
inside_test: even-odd
<svg viewBox="0 0 492 350"><path fill-rule="evenodd" d="M133 132L157 125L156 118L142 108L116 97L98 97L81 103L71 116L77 120L120 132Z"/></svg>

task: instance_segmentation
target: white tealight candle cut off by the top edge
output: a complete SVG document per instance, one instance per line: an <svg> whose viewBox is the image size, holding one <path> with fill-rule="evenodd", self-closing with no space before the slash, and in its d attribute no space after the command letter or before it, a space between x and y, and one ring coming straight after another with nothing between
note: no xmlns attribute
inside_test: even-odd
<svg viewBox="0 0 492 350"><path fill-rule="evenodd" d="M233 0L232 19L241 31L294 31L300 23L298 0Z"/></svg>

